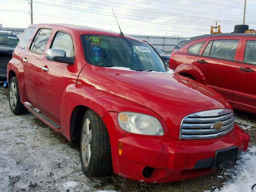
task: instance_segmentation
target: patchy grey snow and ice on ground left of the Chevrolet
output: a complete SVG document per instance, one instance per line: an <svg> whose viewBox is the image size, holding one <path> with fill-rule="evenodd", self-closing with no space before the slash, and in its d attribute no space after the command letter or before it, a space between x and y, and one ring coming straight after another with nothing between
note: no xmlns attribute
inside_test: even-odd
<svg viewBox="0 0 256 192"><path fill-rule="evenodd" d="M32 114L15 116L0 94L0 191L98 191L82 172L77 149ZM46 138L47 137L47 138ZM104 186L106 191L112 186Z"/></svg>

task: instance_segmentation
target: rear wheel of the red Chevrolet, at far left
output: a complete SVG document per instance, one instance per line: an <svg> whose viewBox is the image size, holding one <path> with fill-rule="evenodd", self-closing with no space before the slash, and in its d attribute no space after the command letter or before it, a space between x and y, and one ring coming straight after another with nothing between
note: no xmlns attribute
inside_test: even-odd
<svg viewBox="0 0 256 192"><path fill-rule="evenodd" d="M28 112L28 110L20 102L20 92L19 92L18 80L16 77L13 77L10 80L9 104L12 112L15 115L25 114Z"/></svg>

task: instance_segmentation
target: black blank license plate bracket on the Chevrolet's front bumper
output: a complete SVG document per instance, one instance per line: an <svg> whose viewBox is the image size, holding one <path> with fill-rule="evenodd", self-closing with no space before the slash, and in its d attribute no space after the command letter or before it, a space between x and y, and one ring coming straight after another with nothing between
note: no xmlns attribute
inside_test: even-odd
<svg viewBox="0 0 256 192"><path fill-rule="evenodd" d="M237 159L237 150L238 148L236 146L216 150L212 169L221 169L234 165Z"/></svg>

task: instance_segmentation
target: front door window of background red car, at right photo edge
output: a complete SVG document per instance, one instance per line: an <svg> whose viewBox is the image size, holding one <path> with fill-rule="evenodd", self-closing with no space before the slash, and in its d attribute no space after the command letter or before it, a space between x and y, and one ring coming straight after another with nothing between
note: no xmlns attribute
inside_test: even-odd
<svg viewBox="0 0 256 192"><path fill-rule="evenodd" d="M246 41L244 51L244 62L256 64L256 41Z"/></svg>

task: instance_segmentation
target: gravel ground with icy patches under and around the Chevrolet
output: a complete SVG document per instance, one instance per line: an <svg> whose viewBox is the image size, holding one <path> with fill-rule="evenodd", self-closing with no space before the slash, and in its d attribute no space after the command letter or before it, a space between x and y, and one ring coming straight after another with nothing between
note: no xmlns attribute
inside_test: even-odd
<svg viewBox="0 0 256 192"><path fill-rule="evenodd" d="M221 188L230 175L223 169L208 176L180 182L147 184L112 175L87 178L82 172L78 146L54 132L32 114L10 111L8 89L0 88L0 191L121 191L203 192ZM256 116L236 112L236 123L256 144Z"/></svg>

